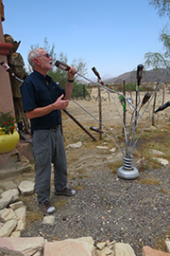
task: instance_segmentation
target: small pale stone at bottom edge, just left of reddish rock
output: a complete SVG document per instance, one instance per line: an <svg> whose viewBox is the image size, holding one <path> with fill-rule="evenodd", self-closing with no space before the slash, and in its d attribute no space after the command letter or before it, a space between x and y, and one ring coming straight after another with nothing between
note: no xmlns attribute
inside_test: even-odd
<svg viewBox="0 0 170 256"><path fill-rule="evenodd" d="M128 244L115 243L113 246L114 256L135 256L134 250Z"/></svg>

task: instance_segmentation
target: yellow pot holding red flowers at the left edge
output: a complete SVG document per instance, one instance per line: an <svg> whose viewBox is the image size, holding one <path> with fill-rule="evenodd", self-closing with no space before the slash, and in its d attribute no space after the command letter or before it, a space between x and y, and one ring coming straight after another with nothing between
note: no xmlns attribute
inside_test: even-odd
<svg viewBox="0 0 170 256"><path fill-rule="evenodd" d="M0 154L5 154L12 151L20 139L19 133L15 130L11 135L6 135L0 128Z"/></svg>

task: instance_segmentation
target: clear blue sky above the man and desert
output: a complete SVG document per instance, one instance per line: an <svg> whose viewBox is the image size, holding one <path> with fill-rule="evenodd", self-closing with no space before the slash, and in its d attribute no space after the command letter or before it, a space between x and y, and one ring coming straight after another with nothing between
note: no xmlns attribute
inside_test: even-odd
<svg viewBox="0 0 170 256"><path fill-rule="evenodd" d="M167 20L160 18L148 0L3 0L4 33L20 41L27 64L31 45L43 46L46 37L68 64L83 59L100 73L116 77L144 63L148 51L163 52L159 42Z"/></svg>

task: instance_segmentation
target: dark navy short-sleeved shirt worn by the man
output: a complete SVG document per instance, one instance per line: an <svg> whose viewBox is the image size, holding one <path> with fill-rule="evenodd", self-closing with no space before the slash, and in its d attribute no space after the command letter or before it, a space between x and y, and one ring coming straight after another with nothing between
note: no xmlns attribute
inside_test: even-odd
<svg viewBox="0 0 170 256"><path fill-rule="evenodd" d="M46 84L48 82L48 85ZM37 107L47 106L57 101L59 96L65 95L65 90L54 82L49 76L44 77L34 71L23 82L21 94L24 111L30 111ZM60 111L54 110L40 118L30 119L31 134L34 130L47 130L60 124Z"/></svg>

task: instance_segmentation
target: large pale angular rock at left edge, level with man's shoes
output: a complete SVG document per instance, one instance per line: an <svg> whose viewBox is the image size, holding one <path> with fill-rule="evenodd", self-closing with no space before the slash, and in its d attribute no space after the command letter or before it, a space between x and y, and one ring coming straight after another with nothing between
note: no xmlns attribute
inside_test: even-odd
<svg viewBox="0 0 170 256"><path fill-rule="evenodd" d="M0 198L0 210L8 207L9 204L14 203L19 198L19 192L17 189L8 190L7 192L1 193Z"/></svg>

